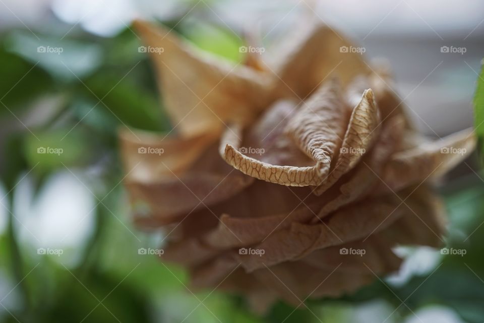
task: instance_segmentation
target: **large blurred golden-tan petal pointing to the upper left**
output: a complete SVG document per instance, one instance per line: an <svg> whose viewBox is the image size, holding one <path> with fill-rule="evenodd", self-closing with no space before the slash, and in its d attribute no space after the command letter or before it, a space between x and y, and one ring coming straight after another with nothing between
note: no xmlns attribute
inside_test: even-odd
<svg viewBox="0 0 484 323"><path fill-rule="evenodd" d="M171 121L191 137L219 132L224 123L246 124L270 99L265 74L199 52L171 30L137 21L150 50Z"/></svg>

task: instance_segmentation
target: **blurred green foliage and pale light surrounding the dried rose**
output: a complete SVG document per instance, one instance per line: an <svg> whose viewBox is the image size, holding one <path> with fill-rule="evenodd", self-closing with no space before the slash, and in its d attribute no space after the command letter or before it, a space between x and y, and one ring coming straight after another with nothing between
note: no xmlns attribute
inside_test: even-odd
<svg viewBox="0 0 484 323"><path fill-rule="evenodd" d="M130 222L116 131L171 125L132 20L158 20L238 62L246 31L259 30L270 59L308 12L391 64L423 133L473 125L480 0L0 0L0 322L484 321L476 154L439 186L447 247L464 255L402 247L399 273L311 310L280 303L258 317L236 295L192 293L180 268L139 254L163 237Z"/></svg>

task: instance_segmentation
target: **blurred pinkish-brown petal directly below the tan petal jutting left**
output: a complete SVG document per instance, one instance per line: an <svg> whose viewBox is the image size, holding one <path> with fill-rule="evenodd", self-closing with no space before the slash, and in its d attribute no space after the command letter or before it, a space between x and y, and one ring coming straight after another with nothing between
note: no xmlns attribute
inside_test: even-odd
<svg viewBox="0 0 484 323"><path fill-rule="evenodd" d="M135 206L143 206L142 212L135 216L137 223L165 225L169 221L180 220L196 210L229 199L254 182L253 178L226 165L216 149L215 145L206 148L181 174L175 174L164 164L165 153L156 155L158 163L170 174L149 183L126 180L131 200Z"/></svg>

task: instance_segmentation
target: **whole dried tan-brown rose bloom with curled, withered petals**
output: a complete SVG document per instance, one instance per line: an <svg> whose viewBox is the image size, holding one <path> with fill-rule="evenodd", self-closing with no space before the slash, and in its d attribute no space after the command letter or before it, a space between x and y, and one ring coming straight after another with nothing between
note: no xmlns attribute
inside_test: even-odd
<svg viewBox="0 0 484 323"><path fill-rule="evenodd" d="M165 229L162 258L189 268L193 286L246 294L258 311L298 306L397 270L396 245L441 244L428 183L473 134L423 138L388 70L342 50L352 44L331 28L304 28L279 63L233 66L136 27L163 49L151 56L176 134L121 134L126 185L136 223Z"/></svg>

